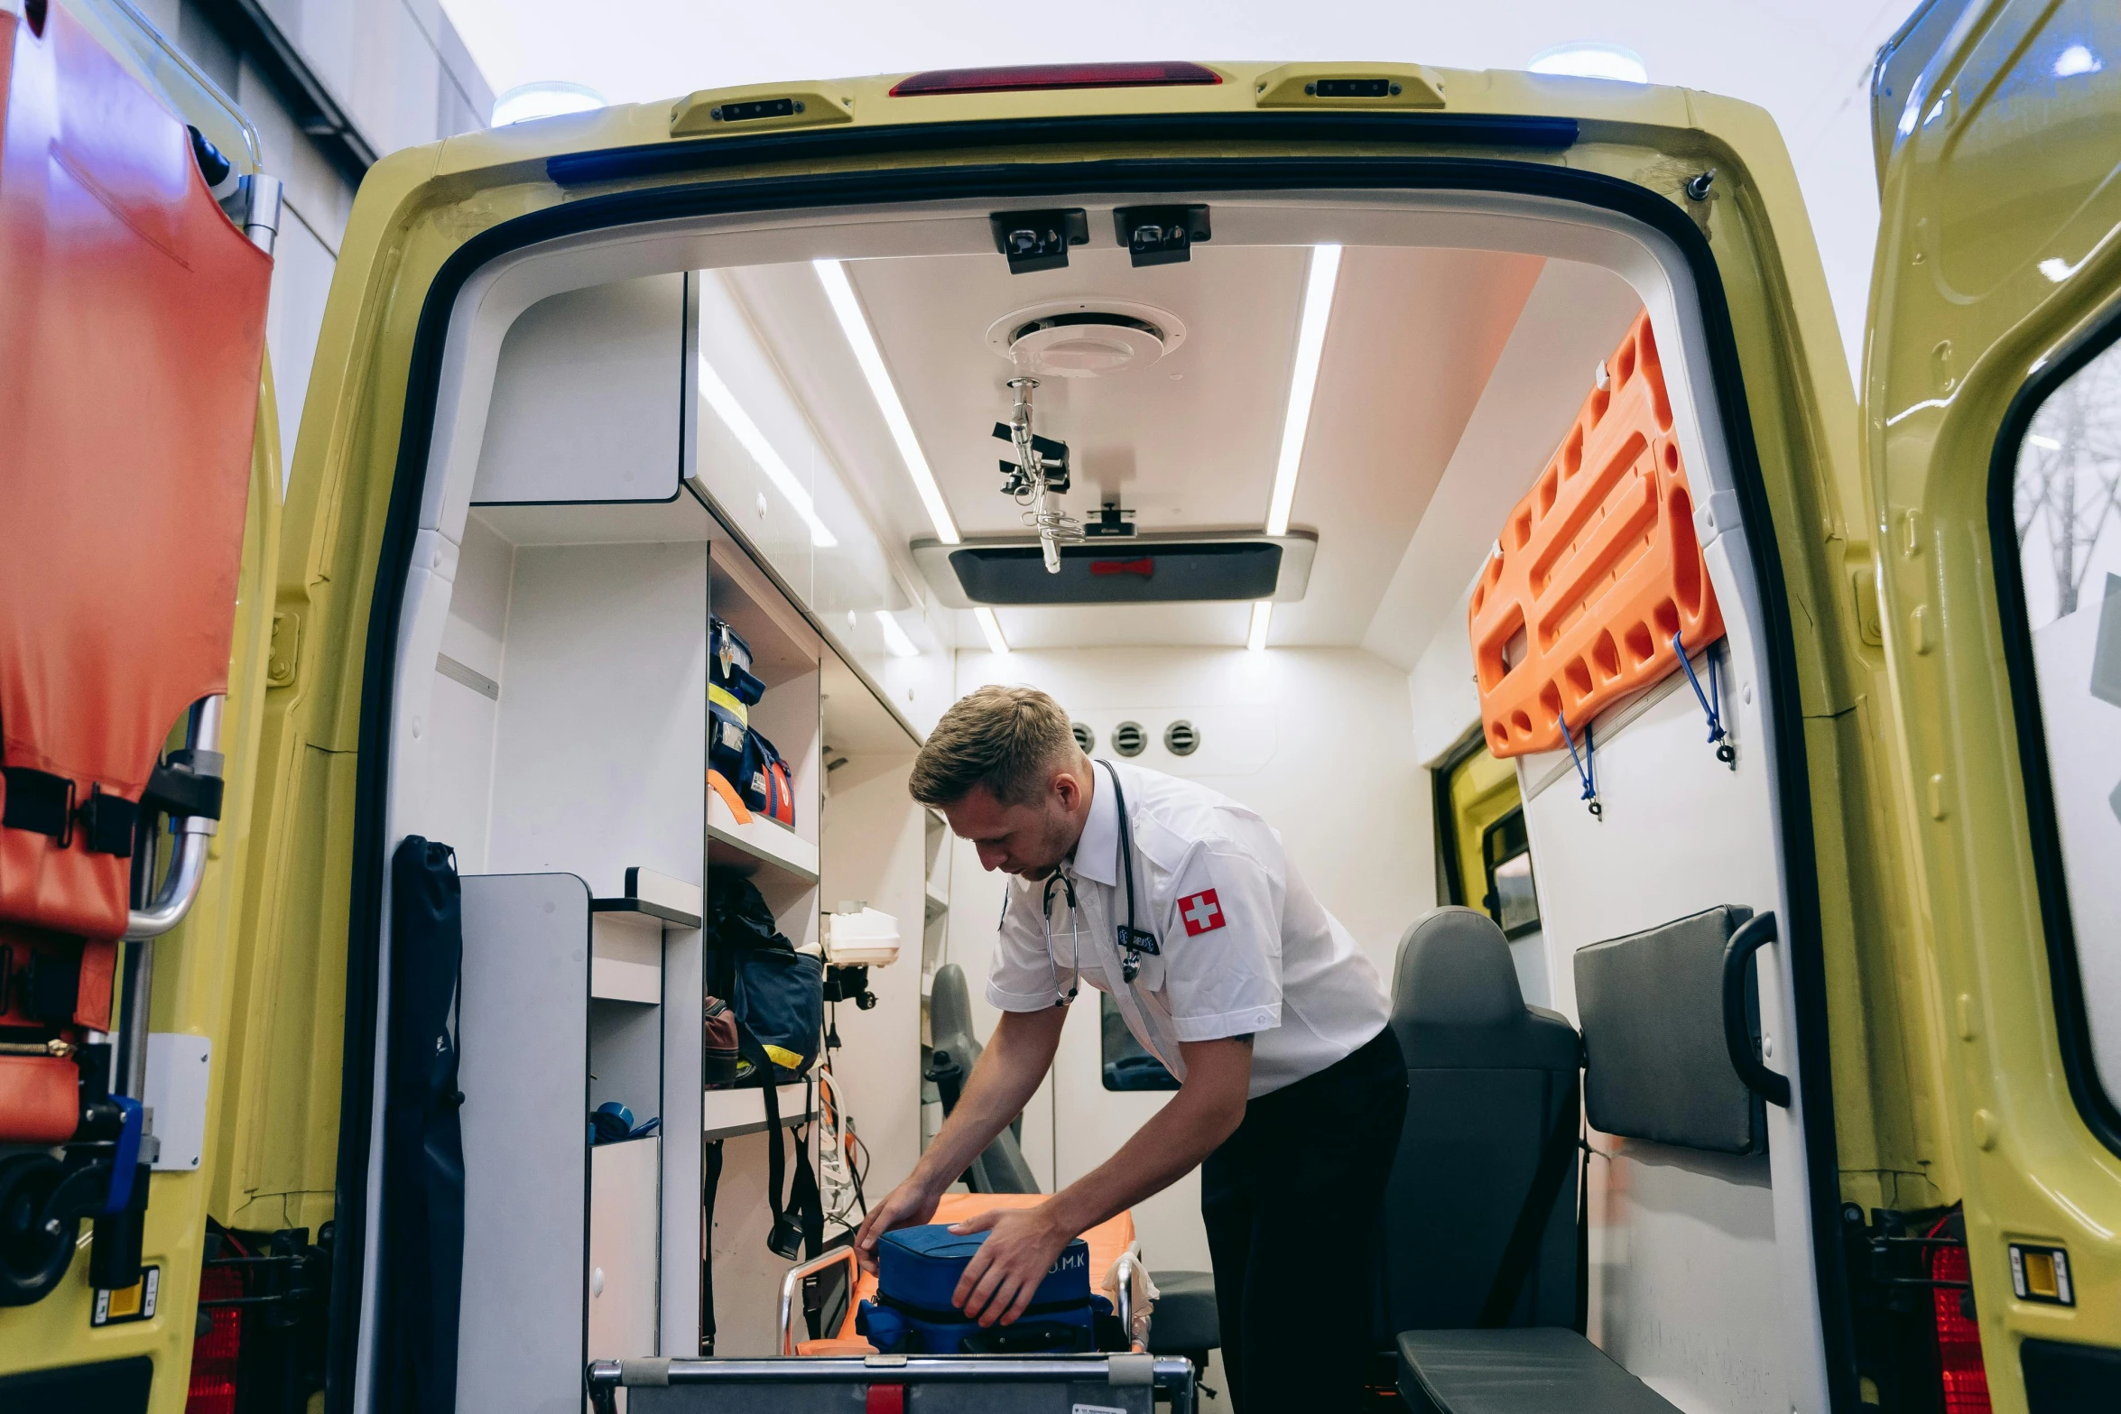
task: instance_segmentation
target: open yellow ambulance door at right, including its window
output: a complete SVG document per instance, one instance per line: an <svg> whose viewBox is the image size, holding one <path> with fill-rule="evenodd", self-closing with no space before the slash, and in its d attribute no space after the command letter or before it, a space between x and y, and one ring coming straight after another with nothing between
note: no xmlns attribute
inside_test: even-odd
<svg viewBox="0 0 2121 1414"><path fill-rule="evenodd" d="M1864 432L1922 914L1909 929L1930 969L1943 1157L1960 1189L1947 1200L1964 1200L1998 1414L2108 1408L2121 1389L2121 8L1932 4L1881 55L1875 95ZM1960 1308L1951 1289L1936 1300Z"/></svg>

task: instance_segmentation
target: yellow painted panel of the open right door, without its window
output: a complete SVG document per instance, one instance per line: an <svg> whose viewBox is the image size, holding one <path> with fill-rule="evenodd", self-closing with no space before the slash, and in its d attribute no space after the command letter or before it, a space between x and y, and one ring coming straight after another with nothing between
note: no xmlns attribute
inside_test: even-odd
<svg viewBox="0 0 2121 1414"><path fill-rule="evenodd" d="M2089 0L1973 6L1930 59L1886 165L1864 360L1877 706L1905 723L1915 901L1896 931L1932 990L1939 1168L1960 1174L1998 1414L2026 1408L2023 1338L2121 1344L2121 1157L2062 1068L1987 515L2011 399L2121 295L2115 55L2074 89L2028 72L2043 36L2096 36L2102 13L2110 36ZM2011 1240L2068 1249L2074 1310L2013 1300Z"/></svg>

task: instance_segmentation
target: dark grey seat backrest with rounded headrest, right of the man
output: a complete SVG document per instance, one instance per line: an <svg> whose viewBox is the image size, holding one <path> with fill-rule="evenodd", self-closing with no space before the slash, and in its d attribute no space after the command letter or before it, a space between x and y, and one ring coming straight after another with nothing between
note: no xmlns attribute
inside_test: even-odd
<svg viewBox="0 0 2121 1414"><path fill-rule="evenodd" d="M1381 1338L1478 1325L1540 1151L1574 1107L1580 1043L1527 1007L1487 914L1440 907L1400 939L1391 1030L1406 1058L1406 1128L1385 1189ZM1576 1319L1572 1160L1510 1325Z"/></svg>

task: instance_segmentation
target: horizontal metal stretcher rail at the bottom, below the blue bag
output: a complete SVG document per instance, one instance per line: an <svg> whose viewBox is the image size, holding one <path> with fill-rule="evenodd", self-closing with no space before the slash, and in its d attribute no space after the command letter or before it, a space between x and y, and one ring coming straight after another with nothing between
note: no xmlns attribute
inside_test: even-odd
<svg viewBox="0 0 2121 1414"><path fill-rule="evenodd" d="M590 1401L666 1384L1150 1384L1192 1414L1192 1361L1175 1355L810 1355L781 1359L590 1361Z"/></svg>

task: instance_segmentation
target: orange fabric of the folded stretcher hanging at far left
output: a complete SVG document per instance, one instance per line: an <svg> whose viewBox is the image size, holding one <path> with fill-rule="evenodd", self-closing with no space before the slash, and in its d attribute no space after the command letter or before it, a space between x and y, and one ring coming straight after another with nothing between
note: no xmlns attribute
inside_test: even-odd
<svg viewBox="0 0 2121 1414"><path fill-rule="evenodd" d="M0 13L0 759L138 799L227 691L271 259L66 8ZM125 931L85 835L0 829L0 922Z"/></svg>

